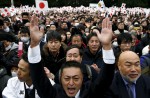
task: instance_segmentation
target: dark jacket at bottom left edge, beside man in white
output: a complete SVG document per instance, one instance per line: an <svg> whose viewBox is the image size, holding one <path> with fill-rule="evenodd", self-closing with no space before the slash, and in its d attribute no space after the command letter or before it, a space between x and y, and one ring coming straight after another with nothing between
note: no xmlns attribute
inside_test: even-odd
<svg viewBox="0 0 150 98"><path fill-rule="evenodd" d="M4 67L0 68L0 98L2 98L2 91L7 85L7 81L10 76L7 75L7 71Z"/></svg>

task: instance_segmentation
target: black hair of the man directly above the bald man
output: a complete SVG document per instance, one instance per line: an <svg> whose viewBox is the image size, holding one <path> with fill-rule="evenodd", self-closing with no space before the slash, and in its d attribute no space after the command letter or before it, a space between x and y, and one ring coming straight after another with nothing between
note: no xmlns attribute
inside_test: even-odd
<svg viewBox="0 0 150 98"><path fill-rule="evenodd" d="M118 45L121 45L121 43L125 41L125 42L132 42L132 36L129 33L121 33L118 35L117 37L117 43Z"/></svg>

